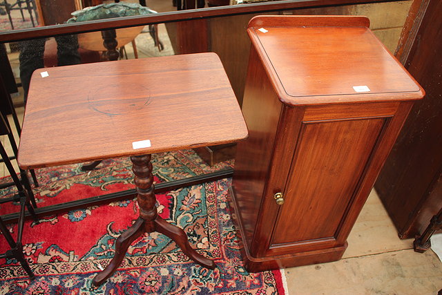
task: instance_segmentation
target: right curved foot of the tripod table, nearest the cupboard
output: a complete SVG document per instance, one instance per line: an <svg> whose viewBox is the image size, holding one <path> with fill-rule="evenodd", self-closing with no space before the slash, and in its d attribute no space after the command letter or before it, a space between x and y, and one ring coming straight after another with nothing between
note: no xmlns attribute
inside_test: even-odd
<svg viewBox="0 0 442 295"><path fill-rule="evenodd" d="M189 256L191 260L195 261L195 263L198 263L203 267L209 269L215 269L216 265L213 262L213 260L210 260L198 254L197 251L195 251L191 247L191 245L189 244L189 240L187 239L186 233L182 229L180 229L180 227L171 225L169 222L167 222L160 216L157 216L157 218L153 220L153 222L155 224L156 231L174 240L177 243L178 247L180 247L184 252L184 254Z"/></svg>

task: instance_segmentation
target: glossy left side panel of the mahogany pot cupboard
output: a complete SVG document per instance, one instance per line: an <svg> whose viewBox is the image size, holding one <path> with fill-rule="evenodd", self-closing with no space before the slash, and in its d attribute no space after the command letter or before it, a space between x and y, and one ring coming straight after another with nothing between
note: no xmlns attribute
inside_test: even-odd
<svg viewBox="0 0 442 295"><path fill-rule="evenodd" d="M268 178L281 106L258 60L256 50L251 48L242 103L249 138L238 142L233 174L238 218L241 220L248 245L251 245L253 240L253 231L256 228Z"/></svg>

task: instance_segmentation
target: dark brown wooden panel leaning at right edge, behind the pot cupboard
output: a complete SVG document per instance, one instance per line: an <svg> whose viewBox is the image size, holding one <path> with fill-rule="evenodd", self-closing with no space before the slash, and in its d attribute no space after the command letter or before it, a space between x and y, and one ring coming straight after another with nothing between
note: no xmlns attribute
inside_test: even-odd
<svg viewBox="0 0 442 295"><path fill-rule="evenodd" d="M426 6L419 8L420 2ZM442 175L442 1L414 3L418 4L414 16L407 18L407 28L413 26L413 30L403 31L399 49L405 51L398 57L426 95L414 104L376 181L376 191L400 238L414 238L442 207L442 195L431 193L432 182ZM416 21L416 15L421 21Z"/></svg>

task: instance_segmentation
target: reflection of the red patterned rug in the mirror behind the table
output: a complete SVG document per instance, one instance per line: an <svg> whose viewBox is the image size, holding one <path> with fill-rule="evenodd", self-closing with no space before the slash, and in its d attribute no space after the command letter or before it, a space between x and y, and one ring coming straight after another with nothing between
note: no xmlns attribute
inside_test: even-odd
<svg viewBox="0 0 442 295"><path fill-rule="evenodd" d="M173 151L152 155L155 183L180 180L231 167L233 160L207 165L193 150ZM106 193L135 189L129 158L104 160L93 171L81 171L82 164L37 169L40 187L34 189L38 207L72 202ZM8 182L0 179L0 184ZM11 197L15 187L1 190L1 197ZM1 214L15 213L19 204L1 205Z"/></svg>

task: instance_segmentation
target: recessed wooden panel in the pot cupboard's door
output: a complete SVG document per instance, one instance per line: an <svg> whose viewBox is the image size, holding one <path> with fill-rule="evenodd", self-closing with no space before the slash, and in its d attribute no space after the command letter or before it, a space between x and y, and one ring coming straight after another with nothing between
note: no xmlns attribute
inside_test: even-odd
<svg viewBox="0 0 442 295"><path fill-rule="evenodd" d="M335 242L385 118L302 122L270 249ZM287 220L292 225L287 227ZM287 248L287 247L290 247Z"/></svg>

